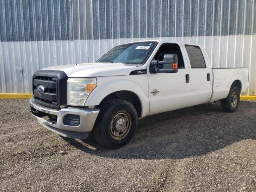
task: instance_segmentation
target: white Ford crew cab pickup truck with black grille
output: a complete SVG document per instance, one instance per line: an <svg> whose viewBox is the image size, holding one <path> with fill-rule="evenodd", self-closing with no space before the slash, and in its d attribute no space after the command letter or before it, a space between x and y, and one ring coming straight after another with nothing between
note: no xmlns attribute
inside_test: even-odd
<svg viewBox="0 0 256 192"><path fill-rule="evenodd" d="M220 100L234 112L248 89L246 68L211 68L204 48L170 40L114 47L96 63L33 74L30 112L45 128L107 148L128 142L138 118Z"/></svg>

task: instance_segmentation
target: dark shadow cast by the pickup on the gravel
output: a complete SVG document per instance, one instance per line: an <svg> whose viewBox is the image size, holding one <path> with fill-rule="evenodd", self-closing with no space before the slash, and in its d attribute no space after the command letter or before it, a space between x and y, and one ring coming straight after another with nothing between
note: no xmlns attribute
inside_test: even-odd
<svg viewBox="0 0 256 192"><path fill-rule="evenodd" d="M244 139L256 140L256 102L241 102L235 113L220 104L202 104L139 120L124 147L106 149L92 136L86 141L63 138L88 154L125 159L181 159L207 154Z"/></svg>

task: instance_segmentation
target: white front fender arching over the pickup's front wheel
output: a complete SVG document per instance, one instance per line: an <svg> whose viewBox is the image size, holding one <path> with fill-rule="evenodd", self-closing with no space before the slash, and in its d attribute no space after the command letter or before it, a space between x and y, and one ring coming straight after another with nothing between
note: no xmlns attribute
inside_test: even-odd
<svg viewBox="0 0 256 192"><path fill-rule="evenodd" d="M132 79L131 76L98 77L97 86L88 96L85 106L99 105L106 96L117 91L134 92L140 99L142 117L149 114L148 78L145 75L133 75Z"/></svg>

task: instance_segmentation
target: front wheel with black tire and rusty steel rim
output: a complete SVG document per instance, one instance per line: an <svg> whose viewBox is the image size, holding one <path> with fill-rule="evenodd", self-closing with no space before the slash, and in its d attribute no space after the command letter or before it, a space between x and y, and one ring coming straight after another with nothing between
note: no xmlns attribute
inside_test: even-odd
<svg viewBox="0 0 256 192"><path fill-rule="evenodd" d="M130 102L121 99L107 100L99 108L100 113L92 130L94 138L106 148L124 146L137 128L136 109Z"/></svg>

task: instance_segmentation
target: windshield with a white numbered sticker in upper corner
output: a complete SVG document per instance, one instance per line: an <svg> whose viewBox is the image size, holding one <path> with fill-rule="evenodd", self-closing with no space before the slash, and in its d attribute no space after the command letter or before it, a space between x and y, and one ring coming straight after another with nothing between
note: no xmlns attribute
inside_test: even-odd
<svg viewBox="0 0 256 192"><path fill-rule="evenodd" d="M142 64L154 49L156 42L129 43L112 48L97 62L122 62Z"/></svg>

